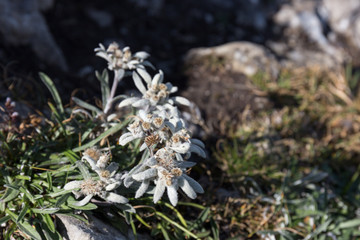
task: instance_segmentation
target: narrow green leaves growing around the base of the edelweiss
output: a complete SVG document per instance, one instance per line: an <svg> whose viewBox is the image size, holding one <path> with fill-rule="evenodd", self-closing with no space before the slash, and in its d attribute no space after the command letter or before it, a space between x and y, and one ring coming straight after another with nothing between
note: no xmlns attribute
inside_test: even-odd
<svg viewBox="0 0 360 240"><path fill-rule="evenodd" d="M107 74L98 74L98 77L106 93L108 88L104 88L104 83L108 84ZM81 151L101 142L106 143L104 140L108 139L114 143L109 145L112 161L127 170L137 161L139 143L127 148L115 144L126 124L126 116L106 127L101 119L73 116L73 109L63 106L51 79L42 73L40 78L54 99L55 104L49 102L50 118L33 129L31 136L0 130L0 235L4 239L62 239L54 224L56 214L66 214L85 222L88 221L87 215L95 214L125 235L128 234L127 229L132 228L135 235L145 232L157 238L217 239L217 226L209 208L197 204L179 203L189 205L200 213L199 217L186 220L179 210L165 202L155 206L149 198L131 199L133 194L123 189L134 208L116 204L104 207L94 202L78 206L71 190L63 190L62 187L69 181L82 179L81 166L77 164ZM103 96L103 101L105 99ZM100 110L89 107L81 100L76 101L90 110L93 116L99 114Z"/></svg>

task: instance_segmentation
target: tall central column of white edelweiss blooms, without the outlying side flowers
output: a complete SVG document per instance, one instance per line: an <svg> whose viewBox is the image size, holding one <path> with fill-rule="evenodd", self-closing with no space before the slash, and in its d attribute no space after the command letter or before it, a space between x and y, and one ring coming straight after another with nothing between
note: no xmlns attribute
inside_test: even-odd
<svg viewBox="0 0 360 240"><path fill-rule="evenodd" d="M191 106L183 97L170 97L177 91L170 83L163 83L164 74L159 71L153 78L149 74L137 72L132 74L134 83L141 97L129 97L123 100L119 107L132 106L137 109L136 116L128 125L129 132L124 133L119 143L141 139L141 151L147 150L149 157L124 175L124 186L130 187L135 181L140 182L135 197L141 197L149 188L150 182L155 183L154 202L158 202L165 189L172 205L178 202L179 188L190 198L204 190L186 173L195 165L186 161L191 153L206 157L204 144L191 138L184 120L176 104ZM146 84L146 87L144 85Z"/></svg>

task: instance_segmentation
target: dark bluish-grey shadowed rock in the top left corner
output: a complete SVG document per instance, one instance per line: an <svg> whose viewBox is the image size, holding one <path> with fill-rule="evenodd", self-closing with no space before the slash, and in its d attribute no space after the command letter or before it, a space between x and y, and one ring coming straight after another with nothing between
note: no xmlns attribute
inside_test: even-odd
<svg viewBox="0 0 360 240"><path fill-rule="evenodd" d="M11 45L30 45L44 62L68 70L65 57L42 16L53 0L1 0L0 33Z"/></svg>

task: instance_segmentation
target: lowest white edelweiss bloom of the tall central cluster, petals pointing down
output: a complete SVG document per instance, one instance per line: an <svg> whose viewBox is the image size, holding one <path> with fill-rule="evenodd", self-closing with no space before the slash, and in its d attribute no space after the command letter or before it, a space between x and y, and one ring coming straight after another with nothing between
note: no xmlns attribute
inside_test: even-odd
<svg viewBox="0 0 360 240"><path fill-rule="evenodd" d="M167 148L159 149L155 156L147 159L144 164L134 168L125 178L125 186L130 186L133 180L141 182L135 198L141 197L149 187L150 181L156 184L154 203L157 203L167 189L167 194L173 206L178 202L179 187L191 199L196 193L203 193L201 185L186 175L186 168L193 167L194 162L178 161L175 154Z"/></svg>

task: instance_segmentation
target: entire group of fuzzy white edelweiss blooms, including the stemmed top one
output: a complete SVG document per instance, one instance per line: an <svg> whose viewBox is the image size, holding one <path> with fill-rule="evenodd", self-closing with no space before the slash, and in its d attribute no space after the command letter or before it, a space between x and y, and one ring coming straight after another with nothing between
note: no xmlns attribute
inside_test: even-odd
<svg viewBox="0 0 360 240"><path fill-rule="evenodd" d="M78 164L80 170L87 166L86 170L82 170L84 180L69 182L64 188L73 189L77 198L83 197L80 205L88 203L94 196L107 202L127 203L128 200L116 191L121 184L126 188L135 188L135 198L145 193L153 194L154 203L166 191L171 204L176 206L180 189L189 198L195 199L197 193L203 193L204 190L188 176L190 168L196 165L188 159L193 153L205 158L205 146L200 140L191 137L177 108L178 105L192 108L193 104L186 98L171 96L177 92L177 87L164 82L161 70L153 77L148 73L147 67L155 70L146 60L148 53L132 54L129 47L120 49L116 43L110 44L108 48L100 44L95 52L107 61L108 69L114 73L105 114L111 114L116 87L125 76L131 76L139 90L138 95L126 97L117 106L118 109L131 107L135 112L127 126L128 131L120 136L118 142L125 146L140 140L143 160L129 172L120 173L117 163L109 163L108 154L90 148L83 153L82 161L86 164ZM90 174L90 169L96 174Z"/></svg>

